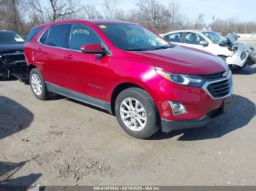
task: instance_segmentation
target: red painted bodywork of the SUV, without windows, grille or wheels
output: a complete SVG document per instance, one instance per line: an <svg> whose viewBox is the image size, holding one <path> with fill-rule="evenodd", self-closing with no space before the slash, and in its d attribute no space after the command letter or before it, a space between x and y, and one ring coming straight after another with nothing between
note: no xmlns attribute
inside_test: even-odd
<svg viewBox="0 0 256 191"><path fill-rule="evenodd" d="M120 50L97 27L99 23L113 22L69 20L47 24L31 42L25 44L26 61L41 71L46 82L108 103L118 85L137 85L154 99L162 119L196 120L221 106L222 99L212 99L202 88L174 84L155 71L155 67L159 67L177 74L214 74L227 69L227 66L220 64L222 61L219 58L181 46L146 52ZM48 47L37 42L46 28L59 23L83 23L89 26L109 47L112 55L86 54ZM99 45L91 44L83 48L99 50ZM173 117L168 101L183 103L187 114Z"/></svg>

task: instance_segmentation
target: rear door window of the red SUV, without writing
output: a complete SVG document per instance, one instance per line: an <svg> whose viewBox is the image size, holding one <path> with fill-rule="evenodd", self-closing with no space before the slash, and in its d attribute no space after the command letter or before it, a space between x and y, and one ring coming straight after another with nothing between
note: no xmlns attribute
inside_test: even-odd
<svg viewBox="0 0 256 191"><path fill-rule="evenodd" d="M67 48L70 26L69 24L52 26L48 34L47 45Z"/></svg>

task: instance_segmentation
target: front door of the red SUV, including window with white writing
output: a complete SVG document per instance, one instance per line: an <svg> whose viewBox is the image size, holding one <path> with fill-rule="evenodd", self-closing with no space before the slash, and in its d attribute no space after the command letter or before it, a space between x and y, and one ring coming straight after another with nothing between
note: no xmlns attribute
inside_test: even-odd
<svg viewBox="0 0 256 191"><path fill-rule="evenodd" d="M82 23L73 23L69 36L69 50L72 58L67 65L68 93L71 97L89 95L104 100L109 85L109 55L83 53L80 48L86 44L102 44L102 39L92 28ZM70 91L71 90L71 91ZM77 94L77 95L75 95Z"/></svg>

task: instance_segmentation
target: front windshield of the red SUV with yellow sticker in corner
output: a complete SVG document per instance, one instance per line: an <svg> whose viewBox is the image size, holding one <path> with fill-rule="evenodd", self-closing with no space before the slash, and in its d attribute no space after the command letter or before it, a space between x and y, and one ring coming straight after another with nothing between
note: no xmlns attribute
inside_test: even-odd
<svg viewBox="0 0 256 191"><path fill-rule="evenodd" d="M137 24L108 23L98 27L121 50L147 51L173 47L156 34Z"/></svg>

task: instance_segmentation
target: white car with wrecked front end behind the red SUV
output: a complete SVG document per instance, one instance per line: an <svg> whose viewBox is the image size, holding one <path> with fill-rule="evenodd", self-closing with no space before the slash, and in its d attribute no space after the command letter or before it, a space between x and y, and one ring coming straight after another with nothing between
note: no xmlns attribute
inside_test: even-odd
<svg viewBox="0 0 256 191"><path fill-rule="evenodd" d="M246 66L249 52L244 46L232 44L214 31L181 30L172 31L161 36L169 42L186 47L204 50L224 59L231 69L242 69Z"/></svg>

